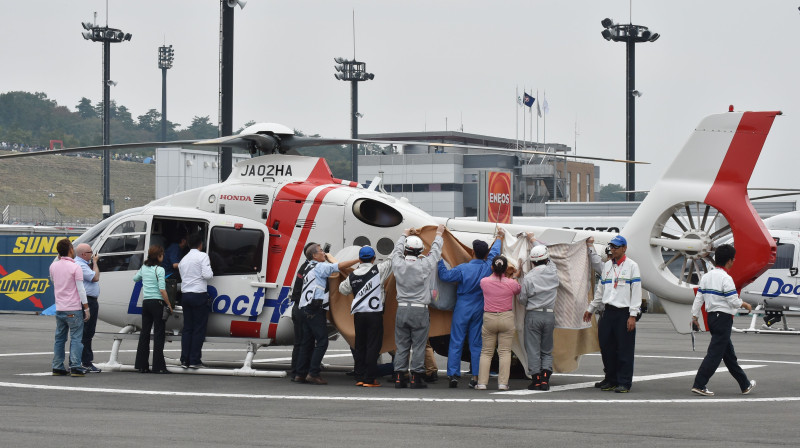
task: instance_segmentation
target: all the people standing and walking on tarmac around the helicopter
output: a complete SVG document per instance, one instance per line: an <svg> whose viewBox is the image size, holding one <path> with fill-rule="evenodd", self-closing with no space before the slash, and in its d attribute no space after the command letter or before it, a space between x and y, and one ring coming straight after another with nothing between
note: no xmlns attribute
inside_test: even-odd
<svg viewBox="0 0 800 448"><path fill-rule="evenodd" d="M305 263L300 267L293 288L292 318L295 325L295 347L292 352L291 378L298 383L327 384L321 376L322 358L328 347L326 312L330 296L328 277L356 264L358 266L339 285L339 292L353 295L351 313L355 342L351 348L355 361L357 386L379 387L382 376L377 360L383 342L383 312L385 283L394 274L397 291L392 382L396 388L425 388L431 381L428 332L428 305L436 292L432 289L434 273L442 281L457 284L456 304L450 329L447 375L449 387L457 388L461 377L461 359L465 342L470 350L471 374L469 387L485 390L489 381L490 363L495 349L499 355L498 389L509 388L511 343L515 332L513 300L525 307L524 346L527 371L531 376L528 389L549 390L553 373L553 332L555 301L559 276L550 260L546 246L537 244L532 233L527 234L533 246L529 260L531 269L520 280L523 270L500 254L503 229L491 247L484 241L473 242L473 258L467 263L448 268L442 258L442 234L439 225L427 255L424 243L412 229L406 229L397 240L389 258L375 263L372 247L364 246L358 258L332 263L317 243L304 248ZM633 382L636 325L640 317L642 286L638 264L626 256L627 240L616 235L609 242L607 261L602 262L594 250L594 239L586 240L591 266L600 276L594 299L583 314L590 322L600 313L598 342L603 371L602 381L595 387L617 393L630 392ZM212 278L208 255L203 250L199 234L181 239L165 251L151 246L147 260L134 276L142 282L142 331L136 354L135 368L142 373L169 373L164 361L164 316L172 312L173 304L166 292L167 269L179 273L182 281L184 327L181 339L181 366L204 367L201 360L206 324L210 312L207 281ZM183 251L189 252L183 255ZM56 335L53 375L83 376L100 372L94 364L92 336L97 322L100 271L97 256L87 244L73 248L69 239L57 244L59 257L50 267L50 277L56 297ZM740 307L751 309L737 295L728 271L736 251L723 244L716 249L715 265L700 280L692 306L692 325L698 325L701 307L705 304L705 322L711 332L708 352L698 370L691 391L712 396L707 384L720 362L739 384L743 394L756 385L738 365L731 342L733 316ZM76 257L77 256L77 257ZM513 267L513 269L509 269ZM513 273L512 273L513 272ZM170 276L174 275L170 273ZM152 370L150 368L150 331L154 327ZM64 365L67 332L71 337L69 370ZM427 356L426 356L427 355ZM430 362L428 363L430 364ZM434 364L435 365L435 364ZM435 367L434 367L435 370ZM435 379L435 378L434 378Z"/></svg>

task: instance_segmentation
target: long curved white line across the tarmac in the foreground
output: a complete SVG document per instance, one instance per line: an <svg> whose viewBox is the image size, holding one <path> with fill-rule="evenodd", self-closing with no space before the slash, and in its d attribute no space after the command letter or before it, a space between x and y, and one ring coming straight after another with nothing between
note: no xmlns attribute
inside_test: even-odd
<svg viewBox="0 0 800 448"><path fill-rule="evenodd" d="M213 392L175 392L153 390L110 389L74 386L48 386L42 384L22 384L0 382L0 387L16 389L57 390L64 392L94 392L107 394L150 395L167 397L210 397L258 400L296 400L296 401L371 401L371 402L434 402L434 403L775 403L800 401L800 397L740 397L740 398L680 398L680 399L536 399L536 398L430 398L430 397L348 397L324 395L268 395L268 394L225 394ZM687 392L688 393L688 392Z"/></svg>

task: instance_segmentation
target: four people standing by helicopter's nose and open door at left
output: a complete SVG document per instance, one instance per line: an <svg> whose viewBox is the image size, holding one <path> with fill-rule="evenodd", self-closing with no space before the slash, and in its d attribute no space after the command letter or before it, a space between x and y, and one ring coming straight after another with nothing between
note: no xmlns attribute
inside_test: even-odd
<svg viewBox="0 0 800 448"><path fill-rule="evenodd" d="M188 253L186 249L190 249ZM93 364L92 352L92 338L99 311L98 257L92 254L88 244L73 247L67 238L57 243L56 250L58 259L50 266L56 303L53 375L85 376L88 372L99 373L100 369ZM133 277L134 282L142 283L142 329L134 364L140 373L170 373L164 360L165 320L172 314L174 304L167 295L166 281L170 276L178 275L182 280L183 308L181 367L205 367L201 354L211 311L207 286L213 272L208 255L203 252L203 237L201 234L182 237L166 252L169 257L167 260L162 246L150 246L147 259ZM151 330L154 335L152 368ZM69 368L64 365L67 333L71 339Z"/></svg>

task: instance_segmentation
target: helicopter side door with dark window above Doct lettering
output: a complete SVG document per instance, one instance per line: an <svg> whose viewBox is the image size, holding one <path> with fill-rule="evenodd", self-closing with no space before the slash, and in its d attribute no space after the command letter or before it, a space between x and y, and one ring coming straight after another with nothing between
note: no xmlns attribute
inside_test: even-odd
<svg viewBox="0 0 800 448"><path fill-rule="evenodd" d="M212 312L255 320L264 308L266 228L255 221L224 223L209 231L208 257L214 277L208 282Z"/></svg>

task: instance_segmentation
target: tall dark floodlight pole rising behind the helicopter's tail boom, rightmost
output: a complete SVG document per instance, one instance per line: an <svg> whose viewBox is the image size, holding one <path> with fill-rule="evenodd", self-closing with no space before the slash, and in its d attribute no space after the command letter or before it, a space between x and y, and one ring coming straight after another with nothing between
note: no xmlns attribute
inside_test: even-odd
<svg viewBox="0 0 800 448"><path fill-rule="evenodd" d="M625 85L625 158L636 160L636 98L641 93L635 87L636 54L635 45L641 42L655 42L661 37L660 34L650 31L646 26L632 24L616 24L613 20L605 18L600 22L603 25L602 36L605 40L614 42L625 42L627 67L627 82ZM625 167L625 200L633 202L636 194L636 166L629 163Z"/></svg>

